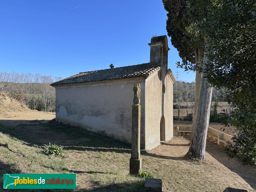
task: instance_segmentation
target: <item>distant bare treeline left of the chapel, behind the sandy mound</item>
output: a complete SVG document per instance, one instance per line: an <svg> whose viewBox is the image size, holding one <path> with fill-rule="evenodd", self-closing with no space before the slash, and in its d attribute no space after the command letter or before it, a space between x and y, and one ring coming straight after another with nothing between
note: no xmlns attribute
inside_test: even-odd
<svg viewBox="0 0 256 192"><path fill-rule="evenodd" d="M38 73L0 72L0 91L30 109L55 111L55 89L50 84L60 79Z"/></svg>

